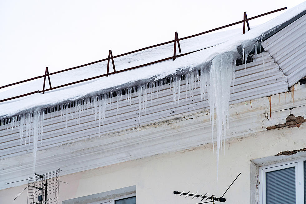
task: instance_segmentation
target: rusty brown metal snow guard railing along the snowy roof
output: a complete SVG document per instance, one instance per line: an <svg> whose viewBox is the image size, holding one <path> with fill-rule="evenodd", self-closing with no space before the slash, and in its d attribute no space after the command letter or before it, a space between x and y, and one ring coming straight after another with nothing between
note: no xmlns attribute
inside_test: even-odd
<svg viewBox="0 0 306 204"><path fill-rule="evenodd" d="M268 14L271 14L271 13L274 13L274 12L282 11L282 10L285 10L285 9L287 9L287 7L280 8L280 9L277 9L277 10L274 10L274 11L270 11L270 12L267 12L267 13L263 13L263 14L260 14L260 15L257 15L257 16L251 17L251 18L248 18L247 15L246 15L246 12L244 12L243 20L242 21L234 22L234 23L222 26L222 27L217 27L217 28L212 29L212 30L208 30L208 31L205 31L205 32L201 32L201 33L198 33L198 34L195 34L195 35L191 35L191 36L187 36L187 37L182 37L182 38L179 38L178 37L178 33L175 32L174 40L171 40L171 41L168 41L168 42L163 42L163 43L156 44L156 45L152 45L152 46L149 46L149 47L144 47L144 48L141 48L141 49L138 49L138 50L134 50L134 51L131 51L131 52L126 52L124 54L120 54L120 55L116 55L116 56L113 56L111 50L109 50L108 58L105 58L105 59L102 59L102 60L98 60L98 61L95 61L95 62L91 62L91 63L88 63L88 64L80 65L80 66L77 66L77 67L72 67L72 68L64 69L64 70L57 71L57 72L49 73L48 67L46 67L45 74L42 75L42 76L33 77L33 78L30 78L30 79L22 80L20 82L15 82L15 83L12 83L12 84L7 84L5 86L0 87L0 89L1 89L1 88L13 86L13 85L16 85L16 84L20 84L20 83L23 83L23 82L28 82L28 81L32 81L32 80L44 77L43 88L42 88L41 91L37 90L37 91L34 91L34 92L29 92L29 93L22 94L22 95L19 95L19 96L2 99L2 100L0 100L0 102L12 100L12 99L20 98L20 97L24 97L24 96L28 96L28 95L31 95L31 94L34 94L34 93L42 93L42 94L44 94L46 91L50 91L50 90L53 90L53 89L69 86L69 85L72 85L72 84L77 84L77 83L80 83L80 82L85 82L85 81L89 81L89 80L92 80L92 79L96 79L96 78L100 78L100 77L105 77L105 76L108 77L109 75L112 75L112 74L116 74L116 73L120 73L120 72L126 72L126 71L129 71L129 70L132 70L132 69L136 69L136 68L140 68L140 67L145 67L145 66L148 66L148 65L151 65L151 64L163 62L163 61L170 60L170 59L175 60L176 57L181 57L181 56L193 53L193 52L197 52L197 51L206 49L206 48L203 48L203 49L200 49L200 50L196 50L196 51L192 51L192 52L187 52L187 53L184 53L184 54L176 55L176 44L178 45L179 52L181 52L181 49L180 49L180 40L185 40L185 39L188 39L188 38L191 38L191 37L196 37L196 36L199 36L199 35L203 35L205 33L213 32L213 31L216 31L216 30L220 30L222 28L230 27L230 26L233 26L233 25L237 25L239 23L243 23L243 34L244 34L245 33L245 23L247 24L248 30L250 30L249 20L252 20L252 19L255 19L255 18L258 18L258 17L262 17L262 16L265 16L265 15L268 15ZM172 42L174 42L174 53L173 53L173 56L171 56L171 57L167 57L167 58L160 59L160 60L157 60L157 61L154 61L154 62L149 62L149 63L146 63L146 64L138 65L138 66L135 66L135 67L130 67L130 68L119 70L119 71L116 71L116 69L115 69L114 58L116 58L116 57L122 57L122 56L125 56L125 55L128 55L128 54L131 54L131 53L139 52L139 51L150 49L150 48L153 48L153 47L158 47L158 46L169 44L169 43L172 43ZM83 79L83 80L79 80L79 81L76 81L76 82L71 82L71 83L63 84L63 85L56 86L56 87L52 87L51 86L50 75L61 73L61 72L66 72L66 71L69 71L69 70L72 70L72 69L77 69L77 68L80 68L80 67L85 67L85 66L88 66L88 65L91 65L91 64L95 64L95 63L98 63L98 62L103 62L103 61L106 61L106 60L107 60L107 71L106 71L106 74L102 74L102 75L99 75L99 76L96 76L96 77L86 78L86 79ZM113 72L109 72L110 60L112 62L112 66L113 66L113 70L114 70ZM48 77L48 82L49 82L49 86L50 86L50 88L48 88L48 89L45 89L46 77Z"/></svg>

